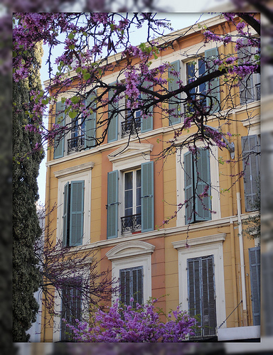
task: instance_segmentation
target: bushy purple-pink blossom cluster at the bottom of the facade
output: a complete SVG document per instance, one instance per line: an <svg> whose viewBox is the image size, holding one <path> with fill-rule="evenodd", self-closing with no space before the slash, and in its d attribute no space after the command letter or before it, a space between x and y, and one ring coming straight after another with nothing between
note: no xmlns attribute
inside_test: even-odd
<svg viewBox="0 0 273 355"><path fill-rule="evenodd" d="M136 307L114 302L107 310L97 310L92 326L79 322L67 327L77 342L182 342L188 335L194 335L196 319L186 312L169 312L166 322L160 320L161 311L156 311L157 299ZM131 299L134 302L134 299Z"/></svg>

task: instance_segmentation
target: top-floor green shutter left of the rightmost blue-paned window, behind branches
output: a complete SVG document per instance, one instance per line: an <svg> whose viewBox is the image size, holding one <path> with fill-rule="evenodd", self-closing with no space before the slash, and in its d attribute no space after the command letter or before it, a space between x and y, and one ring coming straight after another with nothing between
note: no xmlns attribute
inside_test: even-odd
<svg viewBox="0 0 273 355"><path fill-rule="evenodd" d="M173 69L176 72L180 73L180 60L176 60L176 62L171 63ZM180 79L180 75L178 77L174 76L173 73L171 72L171 68L168 68L168 79L170 81L168 82L168 91L172 92L173 90L178 89L179 84L177 83L177 80ZM180 94L177 95L177 97L180 97ZM172 97L169 99L168 102L168 109L174 109L174 114L181 114L181 103L179 99L176 99L175 97ZM169 126L172 126L173 124L178 124L181 122L181 117L176 117L173 116L173 114L169 114L168 116L168 124Z"/></svg>

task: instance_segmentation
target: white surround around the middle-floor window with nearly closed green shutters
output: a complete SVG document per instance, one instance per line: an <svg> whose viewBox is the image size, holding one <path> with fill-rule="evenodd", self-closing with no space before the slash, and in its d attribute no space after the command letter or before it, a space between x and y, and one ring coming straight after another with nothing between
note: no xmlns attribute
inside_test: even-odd
<svg viewBox="0 0 273 355"><path fill-rule="evenodd" d="M185 138L185 137L183 137ZM196 146L198 148L203 147L203 142L197 142ZM210 194L213 197L211 200L211 209L216 213L211 214L211 219L209 221L198 222L200 223L210 223L210 221L215 221L221 218L220 209L220 184L219 184L219 167L218 167L218 147L210 147ZM184 154L188 152L188 148L182 148L181 151L176 153L176 191L177 191L177 205L183 204L185 201L185 172L181 166L184 160ZM185 205L179 209L177 213L176 226L185 226Z"/></svg>

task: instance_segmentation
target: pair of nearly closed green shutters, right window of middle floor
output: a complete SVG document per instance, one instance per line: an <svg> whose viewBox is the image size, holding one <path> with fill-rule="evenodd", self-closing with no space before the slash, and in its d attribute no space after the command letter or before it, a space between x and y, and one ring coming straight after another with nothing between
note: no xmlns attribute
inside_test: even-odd
<svg viewBox="0 0 273 355"><path fill-rule="evenodd" d="M198 154L184 154L184 191L186 202L185 223L211 219L210 206L210 154L199 149ZM202 197L204 190L207 196Z"/></svg>

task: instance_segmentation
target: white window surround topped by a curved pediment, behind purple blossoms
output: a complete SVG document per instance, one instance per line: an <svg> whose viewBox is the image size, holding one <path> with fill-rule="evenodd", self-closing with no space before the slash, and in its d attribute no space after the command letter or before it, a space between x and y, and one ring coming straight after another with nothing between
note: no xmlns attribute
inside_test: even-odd
<svg viewBox="0 0 273 355"><path fill-rule="evenodd" d="M126 241L114 246L106 253L107 258L112 261L112 279L114 285L119 285L119 271L124 268L143 267L143 302L151 297L151 253L155 246L145 241ZM112 302L119 299L119 296L112 295Z"/></svg>

